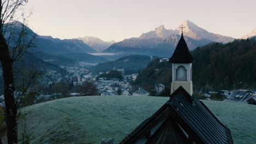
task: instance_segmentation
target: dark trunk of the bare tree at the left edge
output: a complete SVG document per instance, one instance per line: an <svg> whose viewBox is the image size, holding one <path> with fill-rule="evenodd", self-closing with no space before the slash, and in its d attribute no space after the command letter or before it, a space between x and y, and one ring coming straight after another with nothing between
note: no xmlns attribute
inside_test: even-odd
<svg viewBox="0 0 256 144"><path fill-rule="evenodd" d="M4 103L5 103L5 121L7 124L8 143L18 143L16 114L17 106L14 99L14 74L13 61L10 58L9 49L5 43L3 35L0 36L0 60L3 69L4 79Z"/></svg>

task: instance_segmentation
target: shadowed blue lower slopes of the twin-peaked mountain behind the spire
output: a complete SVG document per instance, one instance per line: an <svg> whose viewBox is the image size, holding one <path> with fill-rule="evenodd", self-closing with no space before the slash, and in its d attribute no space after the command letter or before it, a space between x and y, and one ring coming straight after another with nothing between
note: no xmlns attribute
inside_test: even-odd
<svg viewBox="0 0 256 144"><path fill-rule="evenodd" d="M148 56L159 56L159 57L170 57L175 50L175 47L181 38L181 35L171 35L167 38L149 38L139 39L131 38L125 39L118 43L111 45L104 52L119 53L119 55L148 55ZM187 41L190 50L194 50L197 46L206 45L213 41L208 39L195 40L184 36Z"/></svg>

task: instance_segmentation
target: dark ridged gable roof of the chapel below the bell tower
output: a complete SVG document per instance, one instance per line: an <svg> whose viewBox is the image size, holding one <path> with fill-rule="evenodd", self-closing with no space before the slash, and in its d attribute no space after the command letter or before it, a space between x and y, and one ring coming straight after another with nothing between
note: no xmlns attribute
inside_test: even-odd
<svg viewBox="0 0 256 144"><path fill-rule="evenodd" d="M171 125L167 125L171 123ZM156 127L156 125L159 125ZM166 125L166 126L162 126ZM168 126L168 129L166 128ZM156 129L157 130L154 130ZM185 141L179 141L184 135ZM156 137L159 136L159 137ZM170 136L172 139L170 139ZM146 119L120 143L136 143L143 137L144 143L233 143L230 130L198 99L191 97L183 87L172 93L153 116ZM156 139L161 139L156 142Z"/></svg>

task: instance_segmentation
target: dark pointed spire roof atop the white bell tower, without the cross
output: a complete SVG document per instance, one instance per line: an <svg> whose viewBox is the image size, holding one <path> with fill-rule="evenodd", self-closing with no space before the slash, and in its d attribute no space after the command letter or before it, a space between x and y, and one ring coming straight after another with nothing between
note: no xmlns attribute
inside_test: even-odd
<svg viewBox="0 0 256 144"><path fill-rule="evenodd" d="M183 38L183 34L181 39L179 39L179 43L176 46L175 51L173 52L172 57L170 58L169 62L171 63L192 63L194 58L192 57L188 45Z"/></svg>

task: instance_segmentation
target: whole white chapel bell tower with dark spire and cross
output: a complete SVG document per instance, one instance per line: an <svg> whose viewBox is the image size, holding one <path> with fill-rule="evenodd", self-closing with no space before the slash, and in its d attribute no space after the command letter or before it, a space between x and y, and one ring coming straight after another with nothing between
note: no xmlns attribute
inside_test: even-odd
<svg viewBox="0 0 256 144"><path fill-rule="evenodd" d="M188 45L183 38L183 25L181 39L173 52L169 62L172 63L172 86L171 94L180 86L182 86L190 95L193 94L192 85L192 57Z"/></svg>

